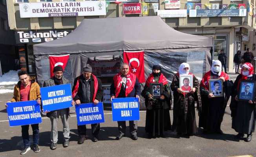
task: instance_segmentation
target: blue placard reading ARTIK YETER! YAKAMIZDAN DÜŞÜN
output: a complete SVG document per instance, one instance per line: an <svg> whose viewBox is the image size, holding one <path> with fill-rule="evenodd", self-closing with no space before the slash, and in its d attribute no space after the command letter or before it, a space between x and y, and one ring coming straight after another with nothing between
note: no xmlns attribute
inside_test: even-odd
<svg viewBox="0 0 256 157"><path fill-rule="evenodd" d="M40 105L36 100L7 103L10 126L38 124L42 122Z"/></svg>

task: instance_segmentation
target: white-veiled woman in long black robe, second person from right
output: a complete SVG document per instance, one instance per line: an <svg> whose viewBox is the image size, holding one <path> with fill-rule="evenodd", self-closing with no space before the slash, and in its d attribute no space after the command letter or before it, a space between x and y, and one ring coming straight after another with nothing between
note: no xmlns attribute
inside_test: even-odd
<svg viewBox="0 0 256 157"><path fill-rule="evenodd" d="M223 81L223 91L209 91L210 79L221 79ZM229 81L229 75L221 71L221 62L213 60L211 70L205 73L200 84L202 113L199 116L199 127L204 129L204 133L223 134L221 122L232 92L232 86L233 82ZM214 94L218 95L221 92L223 92L222 97L214 96Z"/></svg>

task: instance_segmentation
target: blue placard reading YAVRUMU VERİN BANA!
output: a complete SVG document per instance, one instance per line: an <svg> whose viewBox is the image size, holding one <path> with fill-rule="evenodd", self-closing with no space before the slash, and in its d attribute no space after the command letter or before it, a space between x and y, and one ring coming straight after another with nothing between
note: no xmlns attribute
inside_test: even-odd
<svg viewBox="0 0 256 157"><path fill-rule="evenodd" d="M115 98L112 100L113 121L139 120L138 98Z"/></svg>

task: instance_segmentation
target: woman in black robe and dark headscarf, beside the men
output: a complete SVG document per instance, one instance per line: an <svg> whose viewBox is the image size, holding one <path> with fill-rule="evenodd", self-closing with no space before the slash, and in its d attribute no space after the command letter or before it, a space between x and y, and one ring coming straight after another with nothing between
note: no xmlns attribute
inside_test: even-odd
<svg viewBox="0 0 256 157"><path fill-rule="evenodd" d="M154 65L152 71L141 92L141 95L145 98L146 104L145 130L150 138L165 137L164 131L171 130L169 110L172 98L170 87L168 80L161 73L161 67L159 65ZM155 98L150 94L151 83L163 84L163 92L160 98Z"/></svg>

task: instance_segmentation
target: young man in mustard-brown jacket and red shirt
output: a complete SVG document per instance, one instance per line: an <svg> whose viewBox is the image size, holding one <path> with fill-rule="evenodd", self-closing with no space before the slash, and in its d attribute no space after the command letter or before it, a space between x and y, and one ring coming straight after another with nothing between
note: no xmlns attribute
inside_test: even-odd
<svg viewBox="0 0 256 157"><path fill-rule="evenodd" d="M28 101L28 100L37 100L38 104L41 104L41 95L40 95L40 86L35 82L35 80L29 80L29 75L27 71L19 71L18 77L20 81L14 87L13 99L8 102L17 102L17 101ZM8 107L5 104L5 107ZM34 152L40 152L38 146L39 142L39 127L38 124L31 124L33 130L33 150ZM22 139L24 142L24 149L20 154L25 154L30 150L29 143L29 125L21 126Z"/></svg>

